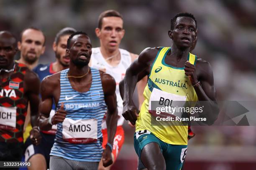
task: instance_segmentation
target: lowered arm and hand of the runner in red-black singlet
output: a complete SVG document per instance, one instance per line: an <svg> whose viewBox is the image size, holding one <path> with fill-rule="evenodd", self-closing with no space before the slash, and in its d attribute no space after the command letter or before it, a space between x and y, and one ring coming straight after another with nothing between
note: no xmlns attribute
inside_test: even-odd
<svg viewBox="0 0 256 170"><path fill-rule="evenodd" d="M30 102L30 122L33 129L30 131L30 138L33 144L38 145L41 135L38 130L38 105L39 105L40 80L31 70L27 70L24 76L24 91Z"/></svg>

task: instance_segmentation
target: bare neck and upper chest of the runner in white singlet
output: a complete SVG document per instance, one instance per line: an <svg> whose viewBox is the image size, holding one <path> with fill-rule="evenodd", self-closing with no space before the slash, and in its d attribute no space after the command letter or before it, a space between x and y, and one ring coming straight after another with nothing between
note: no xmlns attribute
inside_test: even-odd
<svg viewBox="0 0 256 170"><path fill-rule="evenodd" d="M109 50L104 46L100 47L100 52L105 60L112 66L118 65L120 62L120 51L119 48L116 50Z"/></svg>

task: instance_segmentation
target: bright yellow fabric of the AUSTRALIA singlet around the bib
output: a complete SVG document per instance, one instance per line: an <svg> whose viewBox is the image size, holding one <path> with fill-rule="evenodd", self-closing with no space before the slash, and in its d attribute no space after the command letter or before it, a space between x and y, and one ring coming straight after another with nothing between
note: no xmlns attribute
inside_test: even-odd
<svg viewBox="0 0 256 170"><path fill-rule="evenodd" d="M152 82L154 82L154 85L158 86L164 92L187 96L186 101L198 100L194 87L185 75L184 68L173 67L164 62L169 50L171 50L170 47L161 47L154 63L152 64L148 83L143 92L145 100L141 106L141 112L139 113L138 120L136 121L136 132L139 130L148 130L165 143L173 145L187 145L187 126L152 126L151 114L148 112ZM195 64L196 58L197 57L195 55L189 53L188 60L191 64Z"/></svg>

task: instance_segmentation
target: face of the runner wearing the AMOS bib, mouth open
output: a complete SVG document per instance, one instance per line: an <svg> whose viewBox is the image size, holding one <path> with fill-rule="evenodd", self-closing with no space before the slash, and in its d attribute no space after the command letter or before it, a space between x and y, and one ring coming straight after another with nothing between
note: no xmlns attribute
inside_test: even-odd
<svg viewBox="0 0 256 170"><path fill-rule="evenodd" d="M70 49L67 49L66 55L70 57L74 65L88 65L92 55L91 40L86 35L75 35L70 41Z"/></svg>

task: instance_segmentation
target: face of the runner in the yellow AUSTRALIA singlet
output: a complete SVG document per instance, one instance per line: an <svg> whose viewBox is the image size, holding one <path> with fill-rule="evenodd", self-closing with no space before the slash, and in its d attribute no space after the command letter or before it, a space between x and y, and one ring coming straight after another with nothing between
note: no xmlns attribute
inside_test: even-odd
<svg viewBox="0 0 256 170"><path fill-rule="evenodd" d="M174 30L169 31L169 36L172 38L177 47L192 47L196 40L196 24L195 20L190 17L178 17L174 23Z"/></svg>

